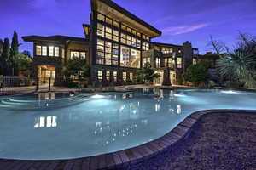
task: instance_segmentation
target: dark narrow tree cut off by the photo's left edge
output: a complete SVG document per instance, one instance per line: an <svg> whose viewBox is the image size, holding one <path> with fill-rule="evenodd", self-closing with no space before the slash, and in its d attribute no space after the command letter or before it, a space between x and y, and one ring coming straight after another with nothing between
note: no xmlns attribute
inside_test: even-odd
<svg viewBox="0 0 256 170"><path fill-rule="evenodd" d="M9 39L8 38L5 38L3 42L1 70L3 75L9 75Z"/></svg>

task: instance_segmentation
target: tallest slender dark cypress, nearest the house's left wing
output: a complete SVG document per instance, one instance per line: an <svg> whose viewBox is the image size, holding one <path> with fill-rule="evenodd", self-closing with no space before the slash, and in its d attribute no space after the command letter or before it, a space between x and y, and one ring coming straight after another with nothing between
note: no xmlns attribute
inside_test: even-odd
<svg viewBox="0 0 256 170"><path fill-rule="evenodd" d="M11 66L12 72L16 76L19 73L19 68L18 68L19 67L19 64L18 64L19 46L20 46L20 44L19 44L19 40L18 40L18 34L15 31L13 38L12 38L9 59L10 59L10 64L11 64L10 66Z"/></svg>

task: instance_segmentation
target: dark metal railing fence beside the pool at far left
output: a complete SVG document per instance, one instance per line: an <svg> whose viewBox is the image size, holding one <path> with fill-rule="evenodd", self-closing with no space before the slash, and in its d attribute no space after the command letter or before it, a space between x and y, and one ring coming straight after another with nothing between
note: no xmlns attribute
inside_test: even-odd
<svg viewBox="0 0 256 170"><path fill-rule="evenodd" d="M38 90L50 91L55 79L38 77L0 77L0 95L26 94Z"/></svg>

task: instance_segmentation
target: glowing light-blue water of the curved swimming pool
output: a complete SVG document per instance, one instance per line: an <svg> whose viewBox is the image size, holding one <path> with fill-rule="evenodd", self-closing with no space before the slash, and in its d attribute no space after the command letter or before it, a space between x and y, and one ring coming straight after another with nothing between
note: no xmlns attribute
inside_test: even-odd
<svg viewBox="0 0 256 170"><path fill-rule="evenodd" d="M0 158L97 156L158 139L192 112L256 110L256 94L142 89L109 94L32 94L0 98Z"/></svg>

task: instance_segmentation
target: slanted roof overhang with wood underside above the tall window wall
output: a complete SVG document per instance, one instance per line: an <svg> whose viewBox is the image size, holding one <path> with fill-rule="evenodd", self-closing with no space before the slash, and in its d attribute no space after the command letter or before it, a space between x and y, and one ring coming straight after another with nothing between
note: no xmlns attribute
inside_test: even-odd
<svg viewBox="0 0 256 170"><path fill-rule="evenodd" d="M139 19L136 15L131 14L125 8L120 7L111 0L91 0L91 8L93 11L105 14L114 20L137 29L137 31L143 32L150 38L160 37L162 34L154 26L150 26L147 22Z"/></svg>

